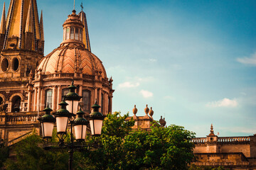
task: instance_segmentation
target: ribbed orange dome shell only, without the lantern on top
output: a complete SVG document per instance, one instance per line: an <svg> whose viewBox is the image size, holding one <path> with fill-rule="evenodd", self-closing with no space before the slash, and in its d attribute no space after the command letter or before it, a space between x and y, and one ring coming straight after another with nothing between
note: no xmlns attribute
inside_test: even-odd
<svg viewBox="0 0 256 170"><path fill-rule="evenodd" d="M42 74L81 73L101 74L107 78L102 61L77 43L64 43L41 60L38 70Z"/></svg>

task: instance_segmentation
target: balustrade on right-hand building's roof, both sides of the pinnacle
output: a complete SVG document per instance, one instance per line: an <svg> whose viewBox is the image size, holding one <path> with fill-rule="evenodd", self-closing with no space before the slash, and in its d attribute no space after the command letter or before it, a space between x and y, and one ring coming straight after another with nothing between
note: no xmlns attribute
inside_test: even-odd
<svg viewBox="0 0 256 170"><path fill-rule="evenodd" d="M194 143L205 143L207 137L195 137L191 140ZM250 142L250 137L218 137L218 142Z"/></svg>

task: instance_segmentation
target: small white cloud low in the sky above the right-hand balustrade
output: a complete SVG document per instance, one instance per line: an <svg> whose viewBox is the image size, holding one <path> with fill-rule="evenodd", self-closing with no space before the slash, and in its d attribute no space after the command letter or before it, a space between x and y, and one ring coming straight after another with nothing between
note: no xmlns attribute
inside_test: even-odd
<svg viewBox="0 0 256 170"><path fill-rule="evenodd" d="M235 99L230 100L229 98L223 98L220 101L212 101L206 104L207 107L210 108L219 108L219 107L228 107L228 108L235 108L238 106L238 101Z"/></svg>

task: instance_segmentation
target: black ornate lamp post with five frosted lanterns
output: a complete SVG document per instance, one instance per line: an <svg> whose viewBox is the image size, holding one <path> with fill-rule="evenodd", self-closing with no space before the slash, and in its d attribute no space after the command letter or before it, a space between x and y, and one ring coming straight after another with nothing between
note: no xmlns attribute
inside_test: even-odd
<svg viewBox="0 0 256 170"><path fill-rule="evenodd" d="M44 145L44 149L68 149L69 152L69 162L68 162L68 169L73 169L73 153L75 149L82 149L84 147L88 147L89 145L85 143L85 136L86 136L86 130L87 125L89 121L87 121L85 118L83 118L83 115L85 114L82 109L80 108L80 111L78 111L75 114L73 114L73 111L76 111L75 108L78 108L78 104L76 104L76 101L80 100L80 96L75 93L75 89L77 88L74 86L73 81L71 86L68 87L70 89L70 92L65 96L65 99L59 103L61 108L55 112L54 116L50 115L50 111L52 111L50 108L45 108L43 111L46 112L45 115L42 116L42 118L38 118L38 120L41 123L42 132L43 132L43 139L46 142ZM71 107L68 107L71 110L67 110L66 106L69 106L69 103ZM97 105L97 101L95 101L95 104L92 106L93 112L90 113L90 128L92 132L92 136L99 136L101 135L102 130L102 121L104 120L105 116L102 115L102 113L99 112L100 106ZM77 116L77 118L75 118ZM73 120L75 118L75 120ZM53 143L50 143L52 134L53 134L53 127L54 123L57 124L57 136L59 138L58 145L54 145ZM67 127L68 123L70 123L70 136L71 141L70 142L64 142L65 137L67 136ZM75 140L73 139L73 126L75 129Z"/></svg>

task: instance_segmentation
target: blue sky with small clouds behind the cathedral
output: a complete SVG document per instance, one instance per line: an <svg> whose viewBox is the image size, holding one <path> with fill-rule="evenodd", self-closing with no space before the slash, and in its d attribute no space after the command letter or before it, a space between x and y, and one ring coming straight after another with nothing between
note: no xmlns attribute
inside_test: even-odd
<svg viewBox="0 0 256 170"><path fill-rule="evenodd" d="M220 136L256 133L256 1L83 4L92 52L114 79L113 111L132 115L136 104L144 115L148 104L155 120L163 115L198 137L211 123ZM62 40L73 1L38 0L41 9L47 55Z"/></svg>

